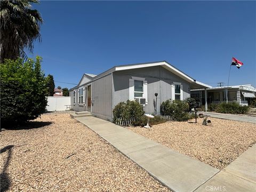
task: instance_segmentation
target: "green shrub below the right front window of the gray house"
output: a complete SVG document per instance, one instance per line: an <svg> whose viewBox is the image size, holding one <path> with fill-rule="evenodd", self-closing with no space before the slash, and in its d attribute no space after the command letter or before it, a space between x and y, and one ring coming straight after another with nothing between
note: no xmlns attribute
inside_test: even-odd
<svg viewBox="0 0 256 192"><path fill-rule="evenodd" d="M161 115L171 115L173 121L187 121L189 119L188 110L188 103L180 100L167 100L160 106Z"/></svg>

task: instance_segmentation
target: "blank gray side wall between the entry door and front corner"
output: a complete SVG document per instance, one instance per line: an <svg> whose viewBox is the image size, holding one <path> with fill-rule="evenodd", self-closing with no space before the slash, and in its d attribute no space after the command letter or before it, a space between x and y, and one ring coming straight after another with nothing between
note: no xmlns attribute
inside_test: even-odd
<svg viewBox="0 0 256 192"><path fill-rule="evenodd" d="M110 120L112 114L112 75L92 82L92 114Z"/></svg>

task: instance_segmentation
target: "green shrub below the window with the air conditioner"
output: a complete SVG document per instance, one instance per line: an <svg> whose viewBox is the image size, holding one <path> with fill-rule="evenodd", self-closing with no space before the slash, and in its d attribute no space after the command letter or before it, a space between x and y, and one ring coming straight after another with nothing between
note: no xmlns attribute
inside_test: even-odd
<svg viewBox="0 0 256 192"><path fill-rule="evenodd" d="M140 121L143 115L144 115L143 108L140 105L140 103L136 101L127 100L126 103L119 102L113 110L114 123L117 121L118 118L122 118L122 119L134 118L135 121L133 122L133 125L137 125L137 124L140 124Z"/></svg>

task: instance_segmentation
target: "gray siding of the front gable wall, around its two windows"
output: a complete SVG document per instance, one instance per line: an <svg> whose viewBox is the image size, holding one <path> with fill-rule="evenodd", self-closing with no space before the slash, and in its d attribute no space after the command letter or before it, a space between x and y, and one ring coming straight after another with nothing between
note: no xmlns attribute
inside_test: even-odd
<svg viewBox="0 0 256 192"><path fill-rule="evenodd" d="M155 93L158 93L158 113L161 103L167 99L172 99L173 82L179 82L183 85L183 99L190 97L189 83L161 66L130 69L113 73L113 108L117 103L129 100L129 79L132 76L143 77L148 83L148 105L144 108L146 113L154 112Z"/></svg>

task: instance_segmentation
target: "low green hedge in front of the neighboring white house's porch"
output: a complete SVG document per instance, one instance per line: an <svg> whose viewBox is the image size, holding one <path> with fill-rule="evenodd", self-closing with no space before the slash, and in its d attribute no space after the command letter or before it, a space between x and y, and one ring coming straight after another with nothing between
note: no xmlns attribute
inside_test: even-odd
<svg viewBox="0 0 256 192"><path fill-rule="evenodd" d="M225 114L244 114L248 110L248 106L241 106L237 102L222 102L217 106L216 112Z"/></svg>

